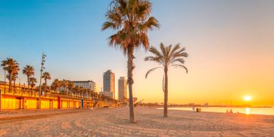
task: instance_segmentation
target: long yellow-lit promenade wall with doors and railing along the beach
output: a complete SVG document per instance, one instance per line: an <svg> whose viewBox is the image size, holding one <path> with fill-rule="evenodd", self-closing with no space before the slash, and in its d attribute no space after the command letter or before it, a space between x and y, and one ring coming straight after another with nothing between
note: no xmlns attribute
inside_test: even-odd
<svg viewBox="0 0 274 137"><path fill-rule="evenodd" d="M109 100L112 102L109 102ZM60 95L53 90L39 96L39 90L37 88L27 88L25 84L12 84L12 88L9 88L8 82L0 81L0 111L38 108L101 108L104 106L118 106L118 103L105 97L101 97L101 100L98 100L97 98L90 99L85 96Z"/></svg>

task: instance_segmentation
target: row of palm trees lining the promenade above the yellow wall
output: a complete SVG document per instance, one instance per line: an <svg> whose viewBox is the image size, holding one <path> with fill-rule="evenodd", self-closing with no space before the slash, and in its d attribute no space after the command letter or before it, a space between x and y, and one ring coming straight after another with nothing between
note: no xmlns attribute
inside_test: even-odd
<svg viewBox="0 0 274 137"><path fill-rule="evenodd" d="M12 88L12 82L14 82L14 88L16 79L18 79L18 73L20 71L19 64L16 60L12 58L7 58L1 62L3 70L8 72L5 77L9 79L9 89ZM26 65L22 71L23 75L27 76L27 89L34 90L36 87L37 79L34 77L34 66ZM82 88L79 86L74 86L73 82L66 79L54 79L51 86L48 86L48 80L51 80L51 75L49 72L42 73L42 79L44 83L42 84L41 89L48 93L51 90L54 90L55 94L59 95L69 95L74 97L84 97L84 98L95 98L98 97L97 92ZM39 87L36 87L38 89Z"/></svg>

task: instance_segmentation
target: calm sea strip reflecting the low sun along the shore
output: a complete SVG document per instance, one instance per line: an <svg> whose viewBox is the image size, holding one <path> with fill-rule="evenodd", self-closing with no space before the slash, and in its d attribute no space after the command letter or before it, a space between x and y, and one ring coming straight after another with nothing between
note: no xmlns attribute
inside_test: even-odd
<svg viewBox="0 0 274 137"><path fill-rule="evenodd" d="M160 108L162 109L162 108ZM169 108L169 110L189 110L192 108ZM220 107L209 107L201 108L201 112L227 112L227 110L232 110L234 113L239 112L243 114L267 114L274 115L274 108L220 108Z"/></svg>

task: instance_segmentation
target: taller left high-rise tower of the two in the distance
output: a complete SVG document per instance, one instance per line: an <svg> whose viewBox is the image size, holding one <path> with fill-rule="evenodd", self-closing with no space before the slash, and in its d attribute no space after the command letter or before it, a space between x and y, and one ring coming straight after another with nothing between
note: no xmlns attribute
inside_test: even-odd
<svg viewBox="0 0 274 137"><path fill-rule="evenodd" d="M113 92L115 99L115 74L111 70L103 73L103 92Z"/></svg>

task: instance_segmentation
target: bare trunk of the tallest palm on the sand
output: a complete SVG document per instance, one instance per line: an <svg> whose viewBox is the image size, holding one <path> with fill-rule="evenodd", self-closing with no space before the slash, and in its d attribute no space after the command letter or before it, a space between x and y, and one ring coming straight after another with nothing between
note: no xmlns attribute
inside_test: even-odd
<svg viewBox="0 0 274 137"><path fill-rule="evenodd" d="M135 123L134 116L134 105L133 105L133 94L132 94L132 84L133 81L133 70L134 70L134 47L129 45L127 49L127 84L129 85L129 121Z"/></svg>

